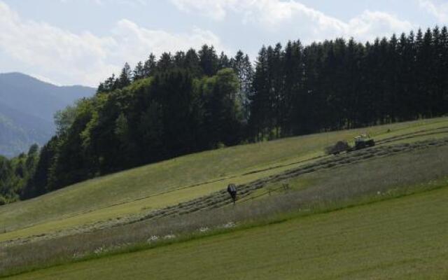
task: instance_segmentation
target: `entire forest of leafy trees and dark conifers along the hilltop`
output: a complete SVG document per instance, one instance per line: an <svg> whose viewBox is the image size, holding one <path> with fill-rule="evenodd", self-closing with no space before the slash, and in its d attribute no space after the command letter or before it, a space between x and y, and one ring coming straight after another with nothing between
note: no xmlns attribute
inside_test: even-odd
<svg viewBox="0 0 448 280"><path fill-rule="evenodd" d="M442 116L447 70L447 27L367 43L278 43L263 46L254 65L244 52L229 58L208 45L151 54L57 113L57 134L40 151L1 158L0 195L26 199L244 142Z"/></svg>

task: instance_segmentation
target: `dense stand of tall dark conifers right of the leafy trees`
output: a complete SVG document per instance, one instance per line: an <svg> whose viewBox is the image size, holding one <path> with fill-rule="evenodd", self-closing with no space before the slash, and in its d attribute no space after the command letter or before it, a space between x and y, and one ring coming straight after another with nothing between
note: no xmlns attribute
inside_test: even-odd
<svg viewBox="0 0 448 280"><path fill-rule="evenodd" d="M442 116L447 27L358 43L337 38L263 47L255 64L255 140Z"/></svg>

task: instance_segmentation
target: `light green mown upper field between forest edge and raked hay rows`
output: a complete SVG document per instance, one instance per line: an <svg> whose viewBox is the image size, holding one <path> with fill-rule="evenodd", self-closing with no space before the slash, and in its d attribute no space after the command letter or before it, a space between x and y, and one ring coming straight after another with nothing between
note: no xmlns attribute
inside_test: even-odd
<svg viewBox="0 0 448 280"><path fill-rule="evenodd" d="M0 207L0 241L76 228L192 200L221 190L229 182L247 183L300 165L295 162L323 155L325 146L363 132L381 140L447 126L448 118L437 118L293 137L197 153L100 177L34 200ZM440 135L423 133L411 138ZM257 170L261 171L248 174Z"/></svg>

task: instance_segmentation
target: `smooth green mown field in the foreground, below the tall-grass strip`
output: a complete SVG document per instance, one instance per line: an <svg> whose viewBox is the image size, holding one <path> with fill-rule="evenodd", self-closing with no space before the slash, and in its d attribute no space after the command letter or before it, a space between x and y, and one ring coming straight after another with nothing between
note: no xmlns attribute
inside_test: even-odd
<svg viewBox="0 0 448 280"><path fill-rule="evenodd" d="M10 279L447 279L448 186Z"/></svg>

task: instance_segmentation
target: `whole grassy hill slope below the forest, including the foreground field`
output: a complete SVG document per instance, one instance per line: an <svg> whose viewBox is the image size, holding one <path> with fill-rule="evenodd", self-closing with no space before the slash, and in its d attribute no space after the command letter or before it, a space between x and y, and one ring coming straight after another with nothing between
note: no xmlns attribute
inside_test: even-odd
<svg viewBox="0 0 448 280"><path fill-rule="evenodd" d="M350 140L366 130L377 140L374 148L337 156L323 154L328 144L341 139ZM325 272L328 279L351 276L355 279L367 276L381 278L393 269L401 268L398 278L405 278L409 268L407 264L421 267L423 276L440 276L442 274L431 274L433 266L424 267L426 264L421 259L410 260L407 253L397 250L405 250L410 255L423 250L424 242L419 244L423 234L433 240L444 238L439 225L444 227L444 221L440 220L444 215L440 205L448 182L448 158L444 156L448 153L447 136L448 118L436 118L293 137L187 155L78 183L33 200L8 204L0 207L0 256L3 256L0 258L0 271L3 269L3 273L8 274L15 268L20 272L27 270L27 267L48 266L59 260L71 262L85 253L102 253L116 246L120 248L123 244L146 243L154 235L182 236L182 232L197 232L202 227L215 229L231 221L237 224L237 232L229 235L200 238L187 243L179 239L180 243L174 246L165 247L162 244L161 248L154 250L45 269L23 274L18 279L62 276L72 279L85 278L87 274L99 279L102 276L113 279L112 274L130 276L127 272L120 274L109 267L112 262L120 262L122 265L114 267L123 270L134 263L136 269L132 270L132 276L137 278L155 267L160 267L158 279L178 278L179 275L172 269L165 269L167 264L161 265L151 256L156 253L167 261L177 258L174 255L179 253L186 258L186 255L201 251L200 244L207 249L201 251L204 255L197 259L198 262L207 262L213 252L223 251L217 257L220 263L232 265L237 271L235 277L247 275L248 278L262 279L277 275L279 278L294 279L300 273L305 279L313 279L318 266L302 265L302 262L312 260L328 265ZM225 193L225 186L230 182L239 185L239 201L232 208L227 207L230 200ZM288 190L281 190L284 184L289 186ZM419 194L376 203L415 193ZM435 197L440 197L440 203L435 202ZM366 203L371 206L316 215L322 211L326 213ZM407 204L409 207L403 207ZM391 209L396 210L395 216L390 214ZM283 216L278 219L278 214ZM414 214L418 215L412 216ZM309 218L303 217L310 215ZM269 217L274 220L269 220ZM409 218L403 221L403 217ZM337 222L333 223L333 219ZM375 220L369 226L369 221L374 219L378 223ZM259 224L263 225L262 228L248 229L244 227L247 221L268 223ZM422 224L421 228L412 228L420 221L428 223ZM391 247L389 240L381 239L381 235L389 238L392 232L400 231L401 228L394 228L395 224L409 228L409 232L397 232L391 240L399 242L398 238L405 235L408 239ZM359 230L347 230L352 226ZM297 228L302 230L297 232L294 230ZM340 233L344 229L345 234L341 236L321 234ZM237 241L233 244L230 240L234 237L241 243ZM350 241L356 238L359 240ZM267 240L275 242L269 243ZM294 241L290 244L290 240L298 243ZM300 243L300 240L306 241L306 244ZM320 246L323 241L334 246ZM341 249L343 241L348 242L348 253ZM248 255L238 253L242 244L246 246ZM265 244L263 253L257 253L262 244ZM370 245L360 248L362 244ZM320 249L316 253L313 248L317 247ZM390 248L387 258L384 262L378 262L379 255L387 248ZM429 255L440 255L446 250L443 246L431 248L427 251ZM293 255L291 250L303 254L287 261L283 257ZM360 253L357 255L354 253L356 251ZM398 254L397 262L392 260L393 254ZM276 258L269 259L269 255ZM351 265L351 262L332 261L339 257L362 258L363 262ZM278 265L279 270L266 271L257 269L256 265L237 265L230 261L234 259L241 264L246 260L267 263L272 269ZM147 265L140 266L140 260L145 260ZM186 265L199 269L197 262L186 262ZM439 267L443 263L437 260L433 265ZM87 267L94 267L94 271ZM188 267L182 269L190 271ZM204 267L197 273L212 275L216 279L227 277L221 275L224 273L223 266L217 267L217 274L209 268ZM104 275L95 274L97 271L104 272ZM191 275L195 278L193 272Z"/></svg>

